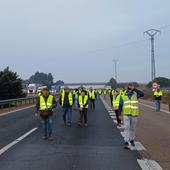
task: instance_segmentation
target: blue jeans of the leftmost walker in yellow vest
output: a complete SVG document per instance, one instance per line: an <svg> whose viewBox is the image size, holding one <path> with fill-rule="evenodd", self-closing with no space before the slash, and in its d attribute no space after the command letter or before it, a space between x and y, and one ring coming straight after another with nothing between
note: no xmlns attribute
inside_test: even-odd
<svg viewBox="0 0 170 170"><path fill-rule="evenodd" d="M44 127L44 135L51 136L52 135L52 115L48 116L47 118L42 118L43 120L43 127Z"/></svg>

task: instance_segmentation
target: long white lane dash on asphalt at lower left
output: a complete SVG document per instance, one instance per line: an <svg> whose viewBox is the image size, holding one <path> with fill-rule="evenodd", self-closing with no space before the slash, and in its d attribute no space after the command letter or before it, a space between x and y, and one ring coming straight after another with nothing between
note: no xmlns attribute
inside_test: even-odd
<svg viewBox="0 0 170 170"><path fill-rule="evenodd" d="M16 139L15 141L11 142L10 144L8 144L7 146L3 147L2 149L0 149L0 155L2 155L4 152L6 152L8 149L10 149L11 147L13 147L14 145L16 145L17 143L19 143L20 141L22 141L23 139L25 139L27 136L29 136L31 133L35 132L38 128L34 128L32 130L30 130L29 132L27 132L26 134L24 134L23 136L19 137L18 139Z"/></svg>

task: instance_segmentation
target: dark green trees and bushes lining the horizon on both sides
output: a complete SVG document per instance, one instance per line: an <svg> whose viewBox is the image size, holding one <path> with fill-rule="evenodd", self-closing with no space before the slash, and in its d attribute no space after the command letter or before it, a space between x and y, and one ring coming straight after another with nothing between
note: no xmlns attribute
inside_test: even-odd
<svg viewBox="0 0 170 170"><path fill-rule="evenodd" d="M158 77L154 80L154 82L157 82L162 88L170 87L170 79L165 77ZM42 72L36 72L28 80L22 80L16 72L13 72L9 69L9 67L7 67L0 71L0 100L25 97L26 94L23 92L23 85L28 85L30 83L46 85L49 88L52 85L64 85L62 80L54 82L54 77L51 73L46 74ZM125 88L127 87L128 83L118 83L114 78L111 78L107 85L110 85L113 89L116 87ZM139 86L137 82L136 86ZM146 88L151 87L152 82L149 82L146 85Z"/></svg>

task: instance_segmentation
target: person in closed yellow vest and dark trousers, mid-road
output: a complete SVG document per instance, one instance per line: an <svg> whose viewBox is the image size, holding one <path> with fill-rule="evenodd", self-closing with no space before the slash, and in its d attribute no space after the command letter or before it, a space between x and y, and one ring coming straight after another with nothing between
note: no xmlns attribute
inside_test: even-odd
<svg viewBox="0 0 170 170"><path fill-rule="evenodd" d="M88 111L88 95L85 90L82 90L79 96L79 108L80 108L80 122L79 126L87 127L87 111ZM84 121L83 121L84 120Z"/></svg>

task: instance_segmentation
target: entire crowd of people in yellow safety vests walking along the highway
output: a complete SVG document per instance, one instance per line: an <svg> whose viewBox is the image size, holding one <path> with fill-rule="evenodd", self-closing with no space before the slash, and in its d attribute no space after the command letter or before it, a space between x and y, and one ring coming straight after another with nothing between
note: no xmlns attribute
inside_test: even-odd
<svg viewBox="0 0 170 170"><path fill-rule="evenodd" d="M160 111L160 100L163 93L160 88L154 91L156 101L156 111ZM124 129L124 149L135 147L136 126L140 115L139 99L144 93L137 89L135 83L129 83L128 87L115 89L85 89L83 87L70 89L64 87L61 90L60 97L57 102L47 87L42 89L37 99L37 113L43 121L45 140L53 140L53 110L57 107L57 103L62 108L62 118L64 126L71 127L73 124L73 112L79 112L79 127L88 127L88 111L95 111L96 99L102 96L110 96L111 105L116 115L117 126ZM91 122L93 123L93 122Z"/></svg>

